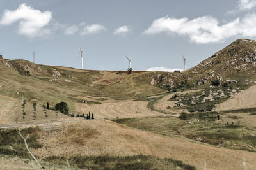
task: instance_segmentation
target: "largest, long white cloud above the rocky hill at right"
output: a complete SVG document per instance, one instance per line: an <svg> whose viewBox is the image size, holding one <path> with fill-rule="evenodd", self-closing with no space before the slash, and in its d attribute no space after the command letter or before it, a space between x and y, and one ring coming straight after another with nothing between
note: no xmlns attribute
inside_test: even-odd
<svg viewBox="0 0 256 170"><path fill-rule="evenodd" d="M256 15L252 13L244 18L236 18L227 24L211 16L188 18L162 17L154 20L152 25L144 31L145 34L159 34L162 32L176 33L189 36L195 43L217 43L232 36L256 36Z"/></svg>

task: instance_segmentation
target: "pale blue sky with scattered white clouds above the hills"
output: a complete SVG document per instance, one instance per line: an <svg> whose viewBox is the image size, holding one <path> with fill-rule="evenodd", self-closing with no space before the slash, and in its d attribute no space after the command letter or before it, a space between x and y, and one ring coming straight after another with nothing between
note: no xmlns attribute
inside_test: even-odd
<svg viewBox="0 0 256 170"><path fill-rule="evenodd" d="M0 0L6 59L84 69L173 71L256 38L256 0Z"/></svg>

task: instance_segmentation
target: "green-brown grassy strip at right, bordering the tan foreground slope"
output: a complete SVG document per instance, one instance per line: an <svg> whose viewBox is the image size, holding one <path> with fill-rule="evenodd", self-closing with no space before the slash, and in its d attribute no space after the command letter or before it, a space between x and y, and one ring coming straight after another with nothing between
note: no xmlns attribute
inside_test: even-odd
<svg viewBox="0 0 256 170"><path fill-rule="evenodd" d="M217 112L182 113L180 118L144 117L115 120L119 124L164 136L182 136L215 146L256 152L256 128L239 120L225 121Z"/></svg>

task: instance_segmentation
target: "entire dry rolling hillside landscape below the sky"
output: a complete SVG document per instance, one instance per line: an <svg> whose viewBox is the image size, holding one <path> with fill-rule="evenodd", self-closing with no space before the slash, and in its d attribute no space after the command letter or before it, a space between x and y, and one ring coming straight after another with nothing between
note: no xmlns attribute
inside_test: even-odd
<svg viewBox="0 0 256 170"><path fill-rule="evenodd" d="M256 41L248 39L182 73L119 74L0 57L0 167L10 159L33 165L16 131L23 129L47 169L67 168L65 159L72 169L255 169L255 57ZM211 86L217 79L221 85ZM70 115L90 111L95 120L54 111L60 101Z"/></svg>

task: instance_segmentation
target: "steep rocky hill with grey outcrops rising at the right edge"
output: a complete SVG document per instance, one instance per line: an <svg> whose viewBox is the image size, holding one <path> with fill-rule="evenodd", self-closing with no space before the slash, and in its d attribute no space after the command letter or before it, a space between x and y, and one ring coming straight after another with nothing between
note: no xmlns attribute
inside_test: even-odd
<svg viewBox="0 0 256 170"><path fill-rule="evenodd" d="M212 80L253 84L256 80L256 41L237 39L184 74L190 83L202 85Z"/></svg>

